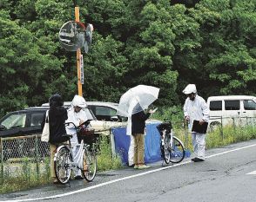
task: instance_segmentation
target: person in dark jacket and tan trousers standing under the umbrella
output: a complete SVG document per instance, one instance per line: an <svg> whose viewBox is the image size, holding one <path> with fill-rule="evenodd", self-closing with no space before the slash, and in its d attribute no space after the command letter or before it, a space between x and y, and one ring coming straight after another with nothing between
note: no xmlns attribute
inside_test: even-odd
<svg viewBox="0 0 256 202"><path fill-rule="evenodd" d="M148 113L145 114L144 110L137 105L135 108L138 113L131 115L131 135L134 137L134 168L135 169L145 169L150 166L145 165L144 161L144 133L145 133L145 121L149 118L149 116L153 113L153 110L149 110Z"/></svg>

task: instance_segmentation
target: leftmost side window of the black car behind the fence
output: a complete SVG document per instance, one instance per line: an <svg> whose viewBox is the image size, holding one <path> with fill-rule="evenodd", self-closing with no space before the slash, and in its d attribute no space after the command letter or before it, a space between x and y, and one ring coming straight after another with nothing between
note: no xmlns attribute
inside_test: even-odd
<svg viewBox="0 0 256 202"><path fill-rule="evenodd" d="M25 123L26 114L11 114L4 121L2 121L1 125L7 129L11 129L16 127L25 127Z"/></svg>

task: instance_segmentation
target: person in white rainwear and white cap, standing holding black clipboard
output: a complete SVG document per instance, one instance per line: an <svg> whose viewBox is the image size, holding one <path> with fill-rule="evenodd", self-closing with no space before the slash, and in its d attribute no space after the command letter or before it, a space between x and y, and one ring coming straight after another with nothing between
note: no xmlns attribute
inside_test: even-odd
<svg viewBox="0 0 256 202"><path fill-rule="evenodd" d="M188 84L183 93L187 95L184 105L185 120L188 121L191 130L194 121L199 121L199 125L203 125L209 121L209 108L205 100L197 94L195 84ZM192 146L195 158L194 162L205 160L205 134L192 131Z"/></svg>

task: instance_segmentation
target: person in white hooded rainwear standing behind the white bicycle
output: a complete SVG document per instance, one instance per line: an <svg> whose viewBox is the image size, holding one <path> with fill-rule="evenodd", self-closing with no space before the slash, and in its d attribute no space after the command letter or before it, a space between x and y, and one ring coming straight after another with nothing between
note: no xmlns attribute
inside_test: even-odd
<svg viewBox="0 0 256 202"><path fill-rule="evenodd" d="M73 122L76 127L87 121L86 113L84 112L83 108L86 108L87 104L84 100L84 97L80 95L75 95L73 101L71 103L71 108L68 109L68 120L66 122ZM78 140L77 140L77 131L73 125L69 125L66 127L67 134L72 134L71 138L71 147L73 148L74 156L77 155L79 151ZM83 179L81 176L81 171L77 169L75 171L75 179Z"/></svg>

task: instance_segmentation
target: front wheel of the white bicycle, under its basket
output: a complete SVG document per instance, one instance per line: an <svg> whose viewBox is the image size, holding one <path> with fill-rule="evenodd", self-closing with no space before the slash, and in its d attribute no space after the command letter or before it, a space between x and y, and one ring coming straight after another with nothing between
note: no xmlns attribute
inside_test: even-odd
<svg viewBox="0 0 256 202"><path fill-rule="evenodd" d="M84 179L91 182L97 173L97 158L93 151L84 151L83 154L83 170Z"/></svg>

